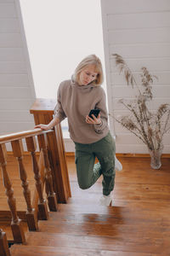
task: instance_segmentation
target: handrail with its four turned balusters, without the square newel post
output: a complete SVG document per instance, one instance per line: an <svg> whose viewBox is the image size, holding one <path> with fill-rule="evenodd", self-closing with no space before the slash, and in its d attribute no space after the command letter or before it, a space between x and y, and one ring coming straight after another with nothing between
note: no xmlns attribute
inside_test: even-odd
<svg viewBox="0 0 170 256"><path fill-rule="evenodd" d="M57 197L54 193L53 189L53 179L51 174L51 168L49 166L48 161L48 149L46 143L46 133L54 132L50 131L42 131L41 129L34 129L31 131L21 131L16 132L14 134L4 135L0 137L0 166L2 167L3 172L3 184L6 189L6 195L8 197L8 207L11 212L12 222L11 222L11 229L14 236L14 242L24 243L26 241L26 237L22 228L22 223L20 218L17 215L16 210L16 200L14 197L14 189L12 187L12 182L8 175L7 170L7 150L6 150L6 143L11 143L13 148L13 154L18 160L19 165L19 173L20 173L20 180L21 186L23 188L23 195L26 201L26 221L28 224L29 230L38 230L37 224L37 212L35 208L32 207L31 204L31 191L29 189L29 184L27 181L27 174L26 168L23 163L23 143L22 139L26 138L26 146L27 150L31 152L32 158L32 166L34 172L34 178L36 181L37 187L37 194L38 194L38 209L39 209L39 216L41 219L48 219L48 208L45 199L42 195L42 181L39 173L39 168L37 165L37 159L35 155L36 151L36 140L35 136L38 137L39 148L43 154L44 166L45 166L45 186L46 186L46 193L48 199L48 207L50 211L57 211Z"/></svg>

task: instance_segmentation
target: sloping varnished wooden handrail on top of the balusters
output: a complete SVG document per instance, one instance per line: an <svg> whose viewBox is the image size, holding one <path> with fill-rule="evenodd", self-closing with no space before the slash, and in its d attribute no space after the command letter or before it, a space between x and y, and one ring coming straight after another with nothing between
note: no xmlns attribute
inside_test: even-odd
<svg viewBox="0 0 170 256"><path fill-rule="evenodd" d="M26 137L33 137L33 136L41 135L41 134L52 132L52 131L54 130L42 131L42 129L37 128L33 130L18 131L14 133L4 134L0 136L0 143L9 143L15 140L20 140Z"/></svg>

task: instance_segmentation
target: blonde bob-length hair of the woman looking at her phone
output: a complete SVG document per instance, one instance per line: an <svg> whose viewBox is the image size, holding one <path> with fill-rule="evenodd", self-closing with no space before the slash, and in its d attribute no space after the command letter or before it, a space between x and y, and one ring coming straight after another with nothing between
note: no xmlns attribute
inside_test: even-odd
<svg viewBox="0 0 170 256"><path fill-rule="evenodd" d="M104 75L103 75L103 68L102 68L102 64L101 61L99 60L99 57L97 57L96 55L88 55L86 58L84 58L78 65L77 68L75 69L75 73L74 73L74 79L75 81L79 84L80 80L80 73L82 72L82 70L87 67L88 65L94 65L95 67L95 73L97 74L97 78L91 83L91 84L95 84L95 85L100 85L103 83L104 80Z"/></svg>

